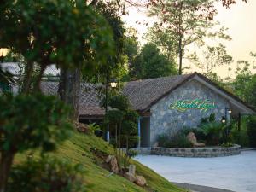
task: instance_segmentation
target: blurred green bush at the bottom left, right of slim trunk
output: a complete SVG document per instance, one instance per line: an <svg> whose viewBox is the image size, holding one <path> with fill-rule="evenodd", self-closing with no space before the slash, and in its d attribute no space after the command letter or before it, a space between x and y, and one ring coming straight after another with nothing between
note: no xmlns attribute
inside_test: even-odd
<svg viewBox="0 0 256 192"><path fill-rule="evenodd" d="M44 157L15 165L7 192L82 192L85 186L83 166Z"/></svg>

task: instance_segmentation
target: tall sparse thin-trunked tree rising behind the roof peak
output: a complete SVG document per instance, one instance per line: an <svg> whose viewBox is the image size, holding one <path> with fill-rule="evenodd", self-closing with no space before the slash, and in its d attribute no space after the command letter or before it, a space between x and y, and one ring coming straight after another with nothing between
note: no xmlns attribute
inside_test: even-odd
<svg viewBox="0 0 256 192"><path fill-rule="evenodd" d="M169 54L173 51L172 46L175 46L174 52L177 52L179 60L179 74L182 74L184 51L189 44L204 44L205 38L229 38L224 34L223 27L211 32L212 27L218 24L213 21L213 16L217 14L217 11L213 9L212 1L164 0L160 3L151 3L151 5L149 14L157 16L160 20L160 23L151 30L154 32L152 35L172 39L169 41L174 42L173 44L160 45L165 45ZM164 34L159 35L156 32Z"/></svg>

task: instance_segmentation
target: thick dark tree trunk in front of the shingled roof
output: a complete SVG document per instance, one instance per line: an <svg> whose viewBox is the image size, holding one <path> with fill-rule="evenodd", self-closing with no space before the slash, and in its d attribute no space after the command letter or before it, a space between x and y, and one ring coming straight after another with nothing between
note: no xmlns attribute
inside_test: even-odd
<svg viewBox="0 0 256 192"><path fill-rule="evenodd" d="M73 109L73 120L79 120L79 91L80 90L80 70L79 68L70 71L61 69L61 79L59 84L59 94L63 102L71 105Z"/></svg>

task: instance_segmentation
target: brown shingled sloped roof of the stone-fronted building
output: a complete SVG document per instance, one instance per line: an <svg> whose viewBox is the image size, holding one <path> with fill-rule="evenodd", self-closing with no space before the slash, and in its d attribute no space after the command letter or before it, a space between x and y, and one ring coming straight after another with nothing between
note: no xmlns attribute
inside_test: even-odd
<svg viewBox="0 0 256 192"><path fill-rule="evenodd" d="M175 75L171 77L127 82L124 85L122 93L129 98L133 109L143 113L150 109L151 106L158 102L161 98L169 95L172 90L177 89L177 87L179 87L181 84L184 84L185 82L194 78L196 75L255 112L255 109L253 109L251 106L248 106L246 102L241 101L241 99L239 99L237 96L234 96L223 88L219 87L218 84L213 83L210 79L207 79L201 75L201 73L190 73ZM101 91L99 90L101 90L101 88L102 84L81 84L79 97L79 115L84 117L100 117L104 115L104 108L100 108ZM58 83L42 82L41 89L45 94L56 95L58 90Z"/></svg>

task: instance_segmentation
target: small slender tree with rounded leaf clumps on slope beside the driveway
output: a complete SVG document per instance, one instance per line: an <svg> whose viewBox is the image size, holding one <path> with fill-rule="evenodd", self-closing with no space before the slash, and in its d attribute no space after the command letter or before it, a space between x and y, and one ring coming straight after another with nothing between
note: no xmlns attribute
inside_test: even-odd
<svg viewBox="0 0 256 192"><path fill-rule="evenodd" d="M105 101L103 100L102 103ZM137 143L137 118L136 111L131 109L130 102L126 96L115 94L110 96L108 105L112 108L106 113L103 125L109 126L110 135L113 146L116 148L116 157L119 163L119 168L128 166L130 157L129 148ZM122 154L119 149L125 147L125 154Z"/></svg>

